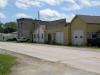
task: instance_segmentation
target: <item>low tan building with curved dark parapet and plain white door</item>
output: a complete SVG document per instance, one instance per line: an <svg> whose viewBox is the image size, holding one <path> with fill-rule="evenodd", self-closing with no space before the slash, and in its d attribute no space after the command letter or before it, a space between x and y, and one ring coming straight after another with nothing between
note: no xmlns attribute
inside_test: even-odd
<svg viewBox="0 0 100 75"><path fill-rule="evenodd" d="M46 29L46 41L53 44L64 44L64 27L66 19L51 21Z"/></svg>

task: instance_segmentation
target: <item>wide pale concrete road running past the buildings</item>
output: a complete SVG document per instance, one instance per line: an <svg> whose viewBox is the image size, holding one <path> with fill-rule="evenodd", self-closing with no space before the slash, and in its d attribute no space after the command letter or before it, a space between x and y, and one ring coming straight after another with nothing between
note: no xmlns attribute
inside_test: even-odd
<svg viewBox="0 0 100 75"><path fill-rule="evenodd" d="M0 48L100 74L100 51L97 50L8 42L0 42Z"/></svg>

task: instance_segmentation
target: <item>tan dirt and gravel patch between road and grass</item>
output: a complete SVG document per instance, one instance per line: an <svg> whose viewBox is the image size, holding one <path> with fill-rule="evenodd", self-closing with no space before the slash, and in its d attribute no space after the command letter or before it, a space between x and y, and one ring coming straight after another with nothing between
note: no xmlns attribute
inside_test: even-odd
<svg viewBox="0 0 100 75"><path fill-rule="evenodd" d="M58 62L48 62L7 50L0 50L0 53L18 57L16 65L12 68L11 75L99 75L75 69Z"/></svg>

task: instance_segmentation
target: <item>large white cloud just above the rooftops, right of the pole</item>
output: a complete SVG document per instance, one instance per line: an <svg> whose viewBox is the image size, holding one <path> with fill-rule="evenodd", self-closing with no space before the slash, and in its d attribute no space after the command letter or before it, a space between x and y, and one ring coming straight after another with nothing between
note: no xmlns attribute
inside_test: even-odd
<svg viewBox="0 0 100 75"><path fill-rule="evenodd" d="M59 13L56 10L44 9L40 11L40 16L46 20L57 20L66 18L67 21L70 21L74 17L74 14L66 15L65 13Z"/></svg>

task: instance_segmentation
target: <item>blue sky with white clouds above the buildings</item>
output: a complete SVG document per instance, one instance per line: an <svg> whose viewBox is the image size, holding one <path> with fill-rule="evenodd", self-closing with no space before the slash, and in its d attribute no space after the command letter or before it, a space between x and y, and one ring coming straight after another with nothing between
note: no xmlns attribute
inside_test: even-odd
<svg viewBox="0 0 100 75"><path fill-rule="evenodd" d="M0 22L19 18L52 21L66 18L70 22L75 15L100 16L100 0L0 0Z"/></svg>

